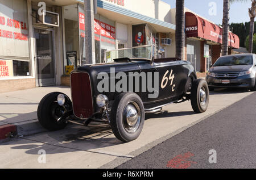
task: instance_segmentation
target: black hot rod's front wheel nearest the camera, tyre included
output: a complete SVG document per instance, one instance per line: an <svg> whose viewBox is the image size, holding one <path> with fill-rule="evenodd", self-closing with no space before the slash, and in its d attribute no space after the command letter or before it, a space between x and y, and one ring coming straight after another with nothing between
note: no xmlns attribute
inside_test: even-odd
<svg viewBox="0 0 256 180"><path fill-rule="evenodd" d="M144 125L144 114L143 102L137 94L119 94L110 115L115 137L125 143L137 139Z"/></svg>

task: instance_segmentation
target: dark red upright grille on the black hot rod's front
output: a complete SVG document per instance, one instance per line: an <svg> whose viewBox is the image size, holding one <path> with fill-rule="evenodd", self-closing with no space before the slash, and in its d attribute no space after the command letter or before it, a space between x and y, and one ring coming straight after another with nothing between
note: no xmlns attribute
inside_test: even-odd
<svg viewBox="0 0 256 180"><path fill-rule="evenodd" d="M89 74L86 72L71 74L71 94L74 115L86 119L93 115L93 99Z"/></svg>

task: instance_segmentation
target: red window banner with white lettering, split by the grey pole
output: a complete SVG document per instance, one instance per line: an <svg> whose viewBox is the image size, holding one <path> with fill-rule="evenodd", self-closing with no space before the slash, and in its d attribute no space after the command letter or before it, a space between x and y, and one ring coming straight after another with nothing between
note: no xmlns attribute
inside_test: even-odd
<svg viewBox="0 0 256 180"><path fill-rule="evenodd" d="M85 15L79 12L79 29L85 31ZM94 34L115 39L115 27L94 19ZM84 36L84 34L81 34Z"/></svg>

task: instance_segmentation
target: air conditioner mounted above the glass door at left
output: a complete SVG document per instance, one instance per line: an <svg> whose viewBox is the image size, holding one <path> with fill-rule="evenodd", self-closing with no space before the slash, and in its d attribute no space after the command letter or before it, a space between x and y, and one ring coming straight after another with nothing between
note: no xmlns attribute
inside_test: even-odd
<svg viewBox="0 0 256 180"><path fill-rule="evenodd" d="M37 11L32 12L34 25L47 25L59 27L59 14L51 11L44 11L43 15L39 15Z"/></svg>

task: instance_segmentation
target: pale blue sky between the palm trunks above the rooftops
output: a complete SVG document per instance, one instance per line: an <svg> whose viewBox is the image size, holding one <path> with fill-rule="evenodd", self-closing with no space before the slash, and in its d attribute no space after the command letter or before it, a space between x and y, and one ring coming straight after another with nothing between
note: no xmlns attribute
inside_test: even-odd
<svg viewBox="0 0 256 180"><path fill-rule="evenodd" d="M175 8L176 0L162 0ZM251 0L247 2L234 2L230 4L229 23L249 22L248 9L251 6ZM185 0L185 7L211 20L216 24L222 24L223 18L223 0ZM216 11L214 11L216 7ZM210 13L209 13L210 10Z"/></svg>

